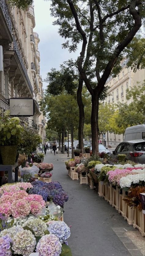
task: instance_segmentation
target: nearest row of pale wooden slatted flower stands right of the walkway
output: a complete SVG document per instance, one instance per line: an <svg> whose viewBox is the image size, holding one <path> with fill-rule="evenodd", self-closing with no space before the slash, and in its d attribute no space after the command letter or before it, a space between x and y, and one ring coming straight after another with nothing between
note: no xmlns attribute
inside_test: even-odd
<svg viewBox="0 0 145 256"><path fill-rule="evenodd" d="M100 181L98 194L115 207L129 225L133 225L143 237L145 236L145 214L139 211L138 208L131 208L125 203L123 200L125 198L124 190L121 191L117 186L115 189L111 184Z"/></svg>

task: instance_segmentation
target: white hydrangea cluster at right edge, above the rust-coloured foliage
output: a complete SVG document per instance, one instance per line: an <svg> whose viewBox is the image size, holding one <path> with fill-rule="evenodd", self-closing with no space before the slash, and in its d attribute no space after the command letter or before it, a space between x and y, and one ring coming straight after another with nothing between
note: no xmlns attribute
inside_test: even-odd
<svg viewBox="0 0 145 256"><path fill-rule="evenodd" d="M130 187L132 183L137 184L139 181L145 181L145 175L143 173L128 175L120 179L121 188Z"/></svg>

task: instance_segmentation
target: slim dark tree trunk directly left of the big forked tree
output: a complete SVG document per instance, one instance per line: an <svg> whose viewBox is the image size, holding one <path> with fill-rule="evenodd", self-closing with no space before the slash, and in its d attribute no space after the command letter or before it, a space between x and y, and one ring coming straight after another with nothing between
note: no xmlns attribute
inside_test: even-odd
<svg viewBox="0 0 145 256"><path fill-rule="evenodd" d="M83 89L83 80L79 79L79 86L77 89L77 104L79 106L79 130L78 130L78 138L79 138L79 148L80 153L84 154L84 104L82 101L82 89Z"/></svg>

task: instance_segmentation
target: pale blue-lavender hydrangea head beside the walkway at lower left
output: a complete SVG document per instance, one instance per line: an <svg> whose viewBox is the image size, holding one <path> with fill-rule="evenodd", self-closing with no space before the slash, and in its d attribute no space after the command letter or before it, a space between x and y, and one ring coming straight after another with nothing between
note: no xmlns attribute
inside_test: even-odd
<svg viewBox="0 0 145 256"><path fill-rule="evenodd" d="M70 237L70 228L64 221L52 221L48 230L50 234L56 235L61 243L64 243Z"/></svg>

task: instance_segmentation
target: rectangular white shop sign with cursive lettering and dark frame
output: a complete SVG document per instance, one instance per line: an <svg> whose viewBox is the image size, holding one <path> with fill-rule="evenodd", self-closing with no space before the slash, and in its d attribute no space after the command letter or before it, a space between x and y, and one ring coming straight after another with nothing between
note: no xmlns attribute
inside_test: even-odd
<svg viewBox="0 0 145 256"><path fill-rule="evenodd" d="M11 116L33 116L34 100L30 98L11 98L9 99Z"/></svg>

